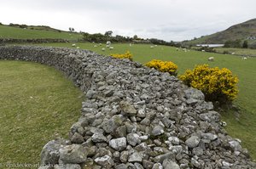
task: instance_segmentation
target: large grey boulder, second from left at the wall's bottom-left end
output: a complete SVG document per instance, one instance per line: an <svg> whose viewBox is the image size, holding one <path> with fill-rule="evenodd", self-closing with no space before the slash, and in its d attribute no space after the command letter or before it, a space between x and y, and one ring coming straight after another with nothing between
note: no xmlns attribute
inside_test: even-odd
<svg viewBox="0 0 256 169"><path fill-rule="evenodd" d="M60 149L60 161L63 164L79 164L86 161L86 149L80 144L66 145Z"/></svg>

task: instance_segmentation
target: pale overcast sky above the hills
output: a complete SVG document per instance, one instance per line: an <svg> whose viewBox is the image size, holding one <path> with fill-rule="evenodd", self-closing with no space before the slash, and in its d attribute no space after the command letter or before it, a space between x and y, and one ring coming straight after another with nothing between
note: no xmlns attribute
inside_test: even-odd
<svg viewBox="0 0 256 169"><path fill-rule="evenodd" d="M182 41L256 18L256 0L0 0L3 24Z"/></svg>

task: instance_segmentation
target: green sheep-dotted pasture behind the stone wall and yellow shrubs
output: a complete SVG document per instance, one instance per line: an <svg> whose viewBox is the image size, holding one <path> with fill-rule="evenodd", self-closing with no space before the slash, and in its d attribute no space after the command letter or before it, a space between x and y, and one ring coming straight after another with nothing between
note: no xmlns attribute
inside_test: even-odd
<svg viewBox="0 0 256 169"><path fill-rule="evenodd" d="M52 43L44 44L54 47L69 47L68 43ZM239 77L240 93L235 101L235 104L241 107L241 115L239 121L236 120L234 112L223 113L223 120L227 121L227 131L235 138L241 138L242 144L250 150L253 159L256 159L256 58L242 60L240 56L230 54L213 54L199 51L178 50L172 47L158 46L150 48L150 45L135 44L131 47L129 44L113 44L113 50L105 46L94 48L92 43L77 43L79 48L90 49L98 54L123 54L129 50L134 54L134 61L147 63L151 59L172 60L178 65L178 74L183 74L184 70L193 69L195 65L208 64L210 66L226 67ZM255 52L255 51L253 51ZM213 56L214 62L209 62L207 59Z"/></svg>

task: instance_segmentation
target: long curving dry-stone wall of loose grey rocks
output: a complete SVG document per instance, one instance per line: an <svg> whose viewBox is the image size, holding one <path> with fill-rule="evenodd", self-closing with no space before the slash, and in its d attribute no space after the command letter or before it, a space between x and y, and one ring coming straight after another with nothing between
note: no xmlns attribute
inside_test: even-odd
<svg viewBox="0 0 256 169"><path fill-rule="evenodd" d="M43 168L255 168L201 91L126 59L67 48L0 47L0 59L55 66L86 99L68 140L42 150Z"/></svg>

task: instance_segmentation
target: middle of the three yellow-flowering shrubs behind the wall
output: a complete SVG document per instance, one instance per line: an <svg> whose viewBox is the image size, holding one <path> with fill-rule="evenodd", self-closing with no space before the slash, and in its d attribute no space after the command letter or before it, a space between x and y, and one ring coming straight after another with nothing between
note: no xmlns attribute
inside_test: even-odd
<svg viewBox="0 0 256 169"><path fill-rule="evenodd" d="M146 66L150 68L154 68L156 70L160 70L162 72L168 72L172 76L177 76L177 65L172 63L171 61L162 61L159 59L153 59L149 61Z"/></svg>

